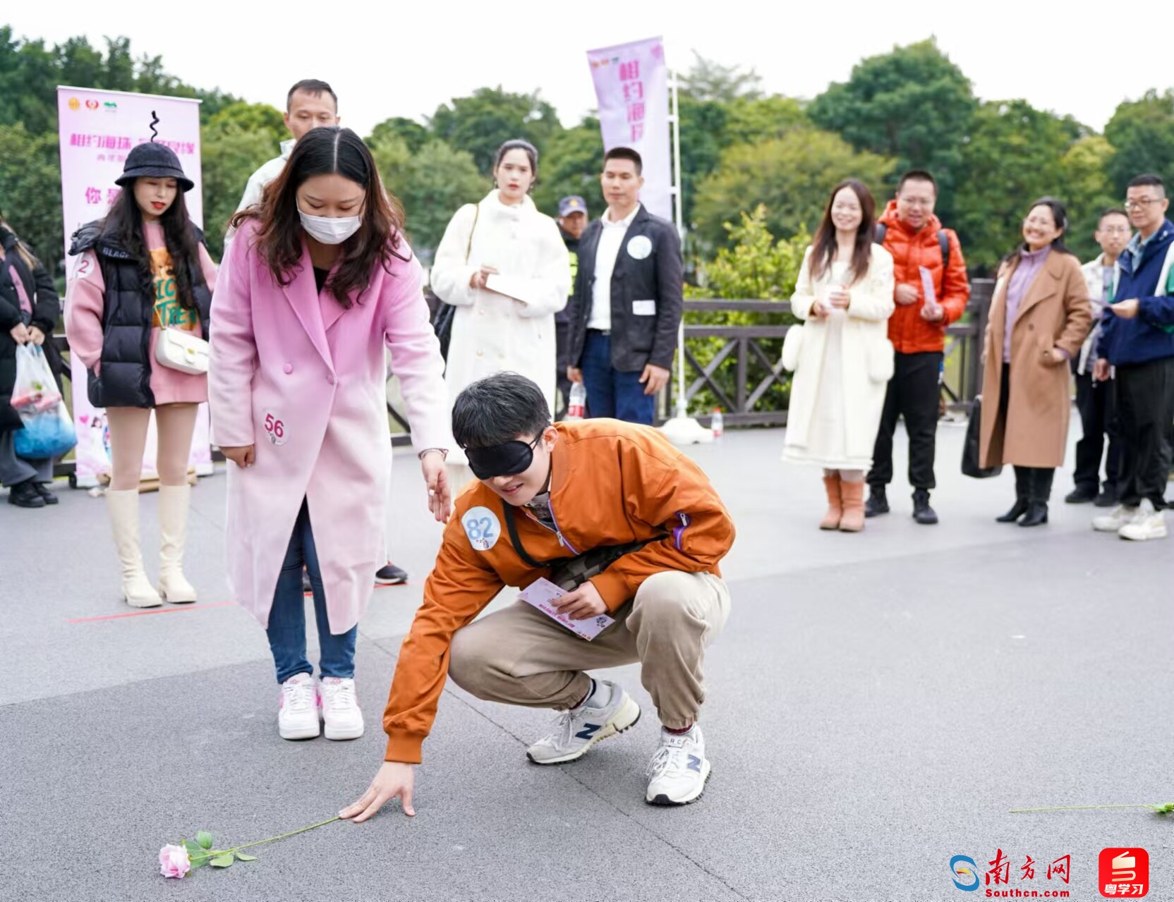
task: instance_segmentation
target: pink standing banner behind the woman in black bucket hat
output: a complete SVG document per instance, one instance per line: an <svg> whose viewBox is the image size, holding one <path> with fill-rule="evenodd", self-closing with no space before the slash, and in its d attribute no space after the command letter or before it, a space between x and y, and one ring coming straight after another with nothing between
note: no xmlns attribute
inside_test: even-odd
<svg viewBox="0 0 1174 902"><path fill-rule="evenodd" d="M160 97L151 94L128 94L116 90L58 87L58 122L61 143L61 206L65 215L66 272L72 278L76 258L70 258L69 239L79 226L101 219L119 196L114 184L136 144L150 141L151 118L156 143L167 144L180 157L180 164L196 186L184 201L188 213L203 224L200 178L200 101L187 97ZM87 374L81 360L70 355L73 378L73 414L77 429L74 450L79 486L95 486L101 474L110 472L109 429L106 411L89 403ZM154 364L153 364L154 365ZM155 421L151 418L143 454L143 479L155 473ZM196 433L191 440L189 464L196 473L212 473L208 405L200 406Z"/></svg>

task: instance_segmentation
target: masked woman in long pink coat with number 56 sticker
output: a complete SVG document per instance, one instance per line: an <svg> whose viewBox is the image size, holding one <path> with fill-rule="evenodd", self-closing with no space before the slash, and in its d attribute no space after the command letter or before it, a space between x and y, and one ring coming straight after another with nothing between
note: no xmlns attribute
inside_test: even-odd
<svg viewBox="0 0 1174 902"><path fill-rule="evenodd" d="M212 440L232 461L228 568L269 635L284 739L363 734L355 638L383 563L391 441L384 345L403 386L429 507L450 510L451 446L440 347L403 215L350 129L304 135L237 213L212 299ZM305 656L310 575L321 681Z"/></svg>

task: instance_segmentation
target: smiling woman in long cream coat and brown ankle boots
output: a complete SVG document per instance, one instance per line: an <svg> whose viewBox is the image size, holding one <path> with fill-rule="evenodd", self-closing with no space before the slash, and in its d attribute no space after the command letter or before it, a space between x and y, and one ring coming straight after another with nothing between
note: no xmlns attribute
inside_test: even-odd
<svg viewBox="0 0 1174 902"><path fill-rule="evenodd" d="M832 190L791 297L805 325L783 346L783 365L795 371L783 460L823 467L819 528L844 533L864 528L864 474L892 378L892 257L873 243L875 211L861 182Z"/></svg>

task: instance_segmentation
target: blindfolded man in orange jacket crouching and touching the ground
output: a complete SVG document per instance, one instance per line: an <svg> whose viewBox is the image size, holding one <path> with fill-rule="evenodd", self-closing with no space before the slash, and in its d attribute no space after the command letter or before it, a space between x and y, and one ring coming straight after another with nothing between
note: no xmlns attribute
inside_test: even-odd
<svg viewBox="0 0 1174 902"><path fill-rule="evenodd" d="M635 726L635 700L587 674L635 663L661 723L645 801L695 801L710 771L702 663L729 616L718 562L734 543L706 474L646 426L552 426L541 389L517 373L465 388L452 429L479 482L457 501L400 647L384 764L342 816L366 820L394 798L414 814L413 765L446 677L487 701L562 712L526 752L560 765ZM566 623L521 599L474 619L505 586L542 591L540 578L560 586L545 597ZM589 628L602 630L581 638Z"/></svg>

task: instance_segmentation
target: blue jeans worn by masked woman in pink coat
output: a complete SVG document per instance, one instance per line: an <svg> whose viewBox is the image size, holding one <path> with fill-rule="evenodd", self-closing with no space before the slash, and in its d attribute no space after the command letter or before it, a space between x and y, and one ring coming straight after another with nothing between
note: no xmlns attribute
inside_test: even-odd
<svg viewBox="0 0 1174 902"><path fill-rule="evenodd" d="M298 673L313 673L305 657L305 597L302 594L302 568L310 574L310 585L313 588L313 613L318 622L318 646L322 659L318 669L323 677L355 676L355 639L358 637L358 624L351 626L340 636L330 632L326 619L326 594L322 589L322 574L318 570L318 551L313 547L313 533L310 529L310 508L302 502L294 523L294 534L285 551L281 576L277 577L277 590L274 592L274 606L269 611L269 649L277 665L277 681L284 683Z"/></svg>

